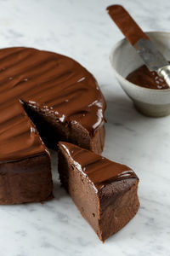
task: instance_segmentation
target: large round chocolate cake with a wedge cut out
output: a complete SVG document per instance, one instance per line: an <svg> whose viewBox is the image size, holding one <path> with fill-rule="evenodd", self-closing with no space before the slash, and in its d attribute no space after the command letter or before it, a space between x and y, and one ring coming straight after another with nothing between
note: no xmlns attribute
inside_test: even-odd
<svg viewBox="0 0 170 256"><path fill-rule="evenodd" d="M0 85L0 204L46 200L46 146L60 139L101 153L105 99L77 61L30 48L0 49Z"/></svg>

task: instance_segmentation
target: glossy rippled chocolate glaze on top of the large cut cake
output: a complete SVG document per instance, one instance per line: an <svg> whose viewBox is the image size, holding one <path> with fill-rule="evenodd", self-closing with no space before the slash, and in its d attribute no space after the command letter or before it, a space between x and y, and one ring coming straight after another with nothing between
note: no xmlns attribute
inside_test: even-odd
<svg viewBox="0 0 170 256"><path fill-rule="evenodd" d="M91 133L104 122L104 97L93 75L77 61L37 49L0 49L1 162L47 150L23 102Z"/></svg>

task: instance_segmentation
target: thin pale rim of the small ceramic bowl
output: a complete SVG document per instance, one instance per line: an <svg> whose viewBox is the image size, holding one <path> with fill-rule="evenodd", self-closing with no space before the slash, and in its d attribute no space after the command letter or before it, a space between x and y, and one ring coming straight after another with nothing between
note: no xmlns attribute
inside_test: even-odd
<svg viewBox="0 0 170 256"><path fill-rule="evenodd" d="M150 35L150 34L165 34L168 35L170 38L170 32L162 32L162 31L147 31L145 32L146 34ZM147 91L152 91L152 92L156 92L156 93L160 93L160 92L165 92L165 91L170 91L170 88L168 89L150 89L150 88L146 88L146 87L142 87L139 86L138 84L133 84L130 81L128 81L127 79L123 78L122 75L120 73L117 72L116 68L113 65L113 61L112 61L112 56L114 55L116 49L118 49L120 47L120 45L127 41L126 38L122 38L121 40L119 40L116 44L114 44L114 46L111 48L111 53L109 56L110 62L111 62L111 67L114 71L114 73L116 74L117 77L119 77L120 79L122 79L125 83L127 83L128 85L130 85L133 88L136 88L138 90L147 90Z"/></svg>

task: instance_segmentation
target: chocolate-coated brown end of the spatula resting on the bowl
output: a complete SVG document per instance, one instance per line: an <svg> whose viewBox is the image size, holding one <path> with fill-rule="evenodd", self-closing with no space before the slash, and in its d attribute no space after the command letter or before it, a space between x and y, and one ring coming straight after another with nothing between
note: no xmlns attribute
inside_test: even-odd
<svg viewBox="0 0 170 256"><path fill-rule="evenodd" d="M107 11L130 44L136 44L140 38L150 40L122 5L111 5Z"/></svg>

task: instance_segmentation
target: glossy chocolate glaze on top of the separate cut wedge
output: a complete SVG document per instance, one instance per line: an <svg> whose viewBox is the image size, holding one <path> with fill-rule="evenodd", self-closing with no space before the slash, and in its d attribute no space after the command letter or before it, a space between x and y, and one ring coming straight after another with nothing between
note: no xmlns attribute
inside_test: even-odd
<svg viewBox="0 0 170 256"><path fill-rule="evenodd" d="M137 178L129 167L107 160L99 154L80 148L71 143L59 142L59 147L71 157L74 165L93 183L96 192L108 183L122 179Z"/></svg>

